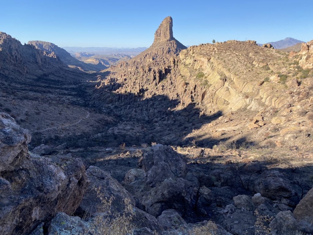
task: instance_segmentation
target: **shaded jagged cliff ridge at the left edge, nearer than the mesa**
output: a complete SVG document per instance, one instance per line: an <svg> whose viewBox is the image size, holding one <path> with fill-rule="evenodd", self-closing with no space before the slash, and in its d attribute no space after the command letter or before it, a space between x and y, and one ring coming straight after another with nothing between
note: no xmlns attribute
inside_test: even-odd
<svg viewBox="0 0 313 235"><path fill-rule="evenodd" d="M51 66L60 66L55 59L49 59L33 45L22 45L10 35L0 32L0 69L2 73L12 71L20 74L35 74Z"/></svg>

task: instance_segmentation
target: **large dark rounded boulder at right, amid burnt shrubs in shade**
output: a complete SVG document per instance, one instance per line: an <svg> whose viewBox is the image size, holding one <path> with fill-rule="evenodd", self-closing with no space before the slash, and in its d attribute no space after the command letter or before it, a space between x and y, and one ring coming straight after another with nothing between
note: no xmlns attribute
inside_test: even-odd
<svg viewBox="0 0 313 235"><path fill-rule="evenodd" d="M254 191L273 200L294 195L290 181L277 170L264 171L254 181Z"/></svg>

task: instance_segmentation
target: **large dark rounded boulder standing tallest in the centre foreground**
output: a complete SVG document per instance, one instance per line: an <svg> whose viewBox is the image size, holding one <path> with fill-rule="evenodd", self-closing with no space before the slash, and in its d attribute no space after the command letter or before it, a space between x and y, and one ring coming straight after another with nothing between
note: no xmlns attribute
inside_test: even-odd
<svg viewBox="0 0 313 235"><path fill-rule="evenodd" d="M152 187L167 178L184 177L187 174L187 164L183 156L170 146L162 144L155 144L145 149L138 165L146 172L147 185Z"/></svg>

